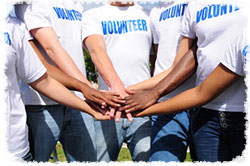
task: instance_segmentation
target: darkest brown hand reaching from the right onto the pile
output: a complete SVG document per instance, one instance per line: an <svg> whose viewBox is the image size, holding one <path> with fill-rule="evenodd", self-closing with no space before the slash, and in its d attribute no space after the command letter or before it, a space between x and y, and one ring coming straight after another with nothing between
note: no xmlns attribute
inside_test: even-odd
<svg viewBox="0 0 250 166"><path fill-rule="evenodd" d="M138 90L134 94L125 97L125 106L120 107L119 111L126 113L143 110L153 105L160 95L153 91L153 89Z"/></svg>

